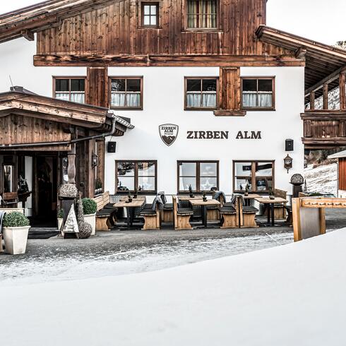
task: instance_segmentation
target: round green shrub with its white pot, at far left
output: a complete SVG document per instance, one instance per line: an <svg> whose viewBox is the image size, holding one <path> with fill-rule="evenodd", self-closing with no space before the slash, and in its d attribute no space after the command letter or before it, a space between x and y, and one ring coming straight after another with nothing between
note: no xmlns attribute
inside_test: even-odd
<svg viewBox="0 0 346 346"><path fill-rule="evenodd" d="M30 222L22 213L7 213L3 220L3 234L6 252L11 255L25 253Z"/></svg>

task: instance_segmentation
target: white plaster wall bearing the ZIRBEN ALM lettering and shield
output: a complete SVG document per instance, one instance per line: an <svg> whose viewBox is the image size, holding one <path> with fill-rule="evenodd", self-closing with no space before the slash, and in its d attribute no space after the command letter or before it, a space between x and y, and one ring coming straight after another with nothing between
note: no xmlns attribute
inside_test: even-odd
<svg viewBox="0 0 346 346"><path fill-rule="evenodd" d="M215 117L213 112L184 111L184 76L218 76L219 68L109 68L109 76L143 76L143 111L117 111L135 129L117 141L117 153L106 155L105 188L114 193L115 160L157 160L157 189L177 193L177 160L219 160L220 189L232 193L232 160L275 160L275 187L292 190L294 173L304 169L304 68L241 68L241 76L275 76L275 112L248 112L245 117ZM167 147L161 124L177 124L179 135ZM186 131L229 131L228 140L189 140ZM262 140L236 140L238 131L261 131ZM283 168L285 139L294 139L294 167ZM110 138L107 138L109 141Z"/></svg>

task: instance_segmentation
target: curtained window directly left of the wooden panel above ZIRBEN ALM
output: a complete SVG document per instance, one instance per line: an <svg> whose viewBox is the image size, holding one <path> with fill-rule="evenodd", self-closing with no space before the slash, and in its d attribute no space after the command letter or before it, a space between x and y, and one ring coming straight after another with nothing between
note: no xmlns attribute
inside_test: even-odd
<svg viewBox="0 0 346 346"><path fill-rule="evenodd" d="M217 78L185 78L185 109L216 109Z"/></svg>

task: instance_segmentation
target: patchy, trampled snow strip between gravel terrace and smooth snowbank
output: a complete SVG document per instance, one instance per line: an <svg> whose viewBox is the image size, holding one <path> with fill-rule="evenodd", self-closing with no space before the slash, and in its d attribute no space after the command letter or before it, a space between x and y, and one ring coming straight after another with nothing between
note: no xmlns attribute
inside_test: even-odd
<svg viewBox="0 0 346 346"><path fill-rule="evenodd" d="M59 249L48 256L30 256L28 259L11 261L1 266L0 286L18 283L100 278L160 270L187 263L233 256L266 249L293 241L293 234L263 234L225 239L183 240L169 244L142 246L114 253L86 256L73 251L60 255ZM47 240L46 240L47 242Z"/></svg>

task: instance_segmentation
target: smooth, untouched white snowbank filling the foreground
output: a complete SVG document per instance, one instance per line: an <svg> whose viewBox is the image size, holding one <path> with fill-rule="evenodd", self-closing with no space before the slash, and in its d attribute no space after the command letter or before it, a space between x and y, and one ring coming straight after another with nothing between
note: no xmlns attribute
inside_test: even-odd
<svg viewBox="0 0 346 346"><path fill-rule="evenodd" d="M346 229L164 270L0 284L1 345L345 345Z"/></svg>

